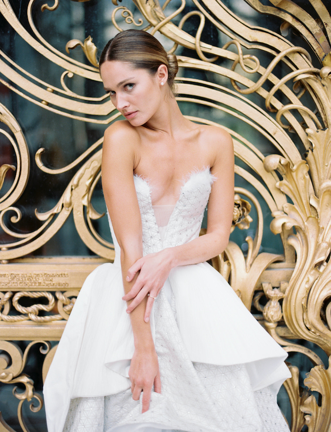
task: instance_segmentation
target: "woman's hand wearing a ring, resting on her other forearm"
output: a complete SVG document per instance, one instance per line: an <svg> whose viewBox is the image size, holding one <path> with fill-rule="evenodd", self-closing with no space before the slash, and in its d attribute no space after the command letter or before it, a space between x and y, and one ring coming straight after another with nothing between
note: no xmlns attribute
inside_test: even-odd
<svg viewBox="0 0 331 432"><path fill-rule="evenodd" d="M169 249L163 249L156 253L149 253L139 258L127 272L126 280L128 282L132 281L136 273L139 272L139 274L131 290L122 297L122 299L126 301L133 299L127 307L126 312L132 312L149 293L144 314L144 321L148 322L154 303L153 297L156 298L161 291L171 269Z"/></svg>

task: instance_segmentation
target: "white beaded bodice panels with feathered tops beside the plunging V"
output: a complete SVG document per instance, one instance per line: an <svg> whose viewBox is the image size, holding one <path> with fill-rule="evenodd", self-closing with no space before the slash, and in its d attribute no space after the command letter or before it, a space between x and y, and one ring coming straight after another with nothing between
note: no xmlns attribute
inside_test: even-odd
<svg viewBox="0 0 331 432"><path fill-rule="evenodd" d="M141 213L144 255L187 243L199 236L213 181L209 168L191 174L182 186L162 241L152 207L150 185L141 177L134 176Z"/></svg>

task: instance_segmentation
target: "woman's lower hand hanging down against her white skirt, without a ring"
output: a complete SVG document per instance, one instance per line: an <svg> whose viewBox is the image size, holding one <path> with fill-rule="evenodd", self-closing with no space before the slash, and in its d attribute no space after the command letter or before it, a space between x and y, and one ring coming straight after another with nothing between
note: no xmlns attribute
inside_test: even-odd
<svg viewBox="0 0 331 432"><path fill-rule="evenodd" d="M142 411L149 409L151 392L161 393L161 380L155 348L135 348L129 369L133 400L142 393Z"/></svg>

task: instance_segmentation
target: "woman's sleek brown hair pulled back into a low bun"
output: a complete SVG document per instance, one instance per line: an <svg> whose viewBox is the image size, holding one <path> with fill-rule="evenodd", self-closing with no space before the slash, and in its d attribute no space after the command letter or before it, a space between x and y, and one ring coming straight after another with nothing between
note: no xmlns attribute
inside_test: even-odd
<svg viewBox="0 0 331 432"><path fill-rule="evenodd" d="M130 62L136 69L147 69L151 75L160 64L168 68L168 84L174 91L174 79L178 72L176 55L168 54L154 36L143 30L125 30L118 33L104 47L99 67L105 61Z"/></svg>

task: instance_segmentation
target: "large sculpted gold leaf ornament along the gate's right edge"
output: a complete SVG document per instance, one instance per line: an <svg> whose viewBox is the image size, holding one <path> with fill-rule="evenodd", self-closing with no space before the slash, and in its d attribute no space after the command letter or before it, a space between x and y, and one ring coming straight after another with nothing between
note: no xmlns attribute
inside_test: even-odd
<svg viewBox="0 0 331 432"><path fill-rule="evenodd" d="M268 156L265 159L266 169L271 167L271 160L275 161L275 157ZM304 334L305 339L317 343L330 355L330 329L325 327L315 311L316 308L321 310L322 304L330 296L327 262L331 236L331 183L325 180L319 190L313 191L308 165L304 161L291 167L288 160L278 158L276 168L284 179L278 183L278 187L293 204L285 204L283 211L274 214L271 229L275 233L280 232L284 225L286 229L295 227L296 230L288 239L296 250L297 262L283 301L285 321L294 334ZM298 308L302 308L302 313L298 314Z"/></svg>

